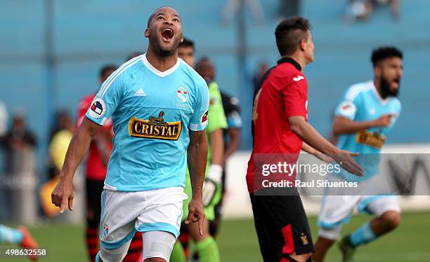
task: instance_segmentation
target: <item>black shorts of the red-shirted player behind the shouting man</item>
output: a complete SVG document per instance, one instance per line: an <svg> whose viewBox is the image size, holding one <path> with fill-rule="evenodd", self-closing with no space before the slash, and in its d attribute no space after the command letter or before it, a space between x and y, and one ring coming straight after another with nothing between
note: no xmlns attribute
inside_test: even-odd
<svg viewBox="0 0 430 262"><path fill-rule="evenodd" d="M103 180L85 179L86 185L86 223L92 228L98 228L101 214L101 193L105 182Z"/></svg>

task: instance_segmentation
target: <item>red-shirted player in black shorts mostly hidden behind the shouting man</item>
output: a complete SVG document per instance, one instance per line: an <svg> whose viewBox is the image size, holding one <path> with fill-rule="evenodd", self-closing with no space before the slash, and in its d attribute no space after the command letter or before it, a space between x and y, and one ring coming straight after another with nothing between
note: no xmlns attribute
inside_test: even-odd
<svg viewBox="0 0 430 262"><path fill-rule="evenodd" d="M133 56L136 57L137 55ZM131 58L133 58L131 57ZM114 65L105 65L99 74L100 84L117 69ZM93 102L96 93L88 95L79 103L77 126L82 123ZM85 168L85 185L86 185L86 247L89 252L91 261L96 261L98 252L98 228L100 228L100 202L103 192L104 181L107 172L107 162L112 152L113 139L112 118L100 127L97 135L89 147L88 158L86 159ZM125 262L138 261L142 254L142 235L136 233L131 241L129 251L124 258Z"/></svg>

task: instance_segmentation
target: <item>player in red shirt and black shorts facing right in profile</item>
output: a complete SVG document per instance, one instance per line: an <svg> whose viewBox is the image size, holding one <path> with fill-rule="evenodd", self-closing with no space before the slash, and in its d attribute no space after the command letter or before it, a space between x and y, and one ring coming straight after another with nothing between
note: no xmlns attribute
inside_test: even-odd
<svg viewBox="0 0 430 262"><path fill-rule="evenodd" d="M302 70L313 62L310 27L304 18L280 22L275 36L282 59L263 76L254 97L254 148L248 163L247 185L264 261L310 261L314 249L299 195L279 194L271 191L276 188L266 188L262 181L268 177L259 169L261 161L283 160L293 164L304 149L323 160L332 158L354 174L363 172L351 158L355 154L337 149L307 123L308 85ZM295 179L294 172L291 178ZM280 177L269 180L277 179Z"/></svg>

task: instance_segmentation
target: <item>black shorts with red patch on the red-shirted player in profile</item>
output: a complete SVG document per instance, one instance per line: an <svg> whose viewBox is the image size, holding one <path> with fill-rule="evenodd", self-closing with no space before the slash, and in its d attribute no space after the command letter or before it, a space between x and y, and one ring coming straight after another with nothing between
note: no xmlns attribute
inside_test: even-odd
<svg viewBox="0 0 430 262"><path fill-rule="evenodd" d="M314 251L308 218L299 195L249 194L260 251L266 262Z"/></svg>

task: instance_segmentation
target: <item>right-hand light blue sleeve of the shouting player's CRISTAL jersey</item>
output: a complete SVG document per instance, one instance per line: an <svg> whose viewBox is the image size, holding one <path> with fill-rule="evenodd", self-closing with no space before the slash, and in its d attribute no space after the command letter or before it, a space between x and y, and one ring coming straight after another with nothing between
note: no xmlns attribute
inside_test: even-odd
<svg viewBox="0 0 430 262"><path fill-rule="evenodd" d="M209 88L207 88L207 84L203 79L198 79L196 82L197 99L188 128L192 131L202 131L207 127L208 123Z"/></svg>

